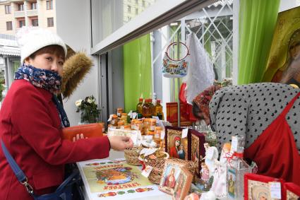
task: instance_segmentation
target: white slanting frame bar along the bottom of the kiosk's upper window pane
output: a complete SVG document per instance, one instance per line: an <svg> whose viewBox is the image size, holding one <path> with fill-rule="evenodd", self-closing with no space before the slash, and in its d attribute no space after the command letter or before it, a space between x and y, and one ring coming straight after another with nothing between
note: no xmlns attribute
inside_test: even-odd
<svg viewBox="0 0 300 200"><path fill-rule="evenodd" d="M96 44L92 43L91 54L104 54L141 35L145 35L164 25L172 23L174 20L182 18L189 13L209 6L215 3L215 1L217 0L156 1L155 4L145 9L145 11L121 26L121 28L114 31L114 33L108 37L105 37L104 40ZM90 0L90 5L92 5L92 0ZM90 10L90 18L92 19L92 8ZM91 30L93 30L92 24ZM92 38L92 31L90 34Z"/></svg>

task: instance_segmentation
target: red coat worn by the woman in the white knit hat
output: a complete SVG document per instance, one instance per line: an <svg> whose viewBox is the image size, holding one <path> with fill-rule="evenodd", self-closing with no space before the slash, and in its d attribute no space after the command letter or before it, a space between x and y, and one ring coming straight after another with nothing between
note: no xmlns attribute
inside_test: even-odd
<svg viewBox="0 0 300 200"><path fill-rule="evenodd" d="M52 94L25 80L14 81L0 111L0 136L37 194L53 192L64 180L64 164L109 156L107 136L61 139ZM32 199L0 148L0 199Z"/></svg>

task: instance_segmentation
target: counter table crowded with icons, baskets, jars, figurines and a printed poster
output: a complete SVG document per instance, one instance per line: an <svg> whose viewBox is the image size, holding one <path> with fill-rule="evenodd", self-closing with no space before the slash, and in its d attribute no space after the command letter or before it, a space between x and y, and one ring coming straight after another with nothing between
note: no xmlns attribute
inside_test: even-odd
<svg viewBox="0 0 300 200"><path fill-rule="evenodd" d="M232 136L219 152L209 126L172 127L160 117L136 117L111 115L107 129L107 136L131 137L133 148L111 151L107 159L77 163L86 199L300 197L296 184L256 174L256 164L243 159L243 136Z"/></svg>

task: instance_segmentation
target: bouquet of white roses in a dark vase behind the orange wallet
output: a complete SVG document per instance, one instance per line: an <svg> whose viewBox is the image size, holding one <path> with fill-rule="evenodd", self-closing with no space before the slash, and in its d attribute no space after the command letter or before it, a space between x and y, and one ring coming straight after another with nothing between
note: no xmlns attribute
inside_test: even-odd
<svg viewBox="0 0 300 200"><path fill-rule="evenodd" d="M80 123L89 124L99 121L100 111L94 96L86 97L84 100L75 102L76 112L80 112Z"/></svg>

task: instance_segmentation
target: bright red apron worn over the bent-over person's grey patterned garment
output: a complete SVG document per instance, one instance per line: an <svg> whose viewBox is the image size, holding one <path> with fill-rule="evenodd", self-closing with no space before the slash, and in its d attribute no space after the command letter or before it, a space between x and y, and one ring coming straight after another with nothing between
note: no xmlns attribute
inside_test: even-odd
<svg viewBox="0 0 300 200"><path fill-rule="evenodd" d="M285 119L300 93L284 108L265 131L246 148L245 158L258 165L258 174L277 177L300 185L300 155Z"/></svg>

